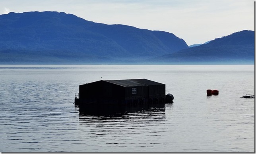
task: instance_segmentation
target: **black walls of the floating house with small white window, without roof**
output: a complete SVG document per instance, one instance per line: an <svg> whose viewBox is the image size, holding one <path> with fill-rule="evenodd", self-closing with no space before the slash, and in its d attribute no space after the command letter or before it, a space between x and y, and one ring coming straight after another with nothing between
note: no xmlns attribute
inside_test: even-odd
<svg viewBox="0 0 256 154"><path fill-rule="evenodd" d="M80 99L140 99L165 96L165 85L123 87L106 81L79 86Z"/></svg>

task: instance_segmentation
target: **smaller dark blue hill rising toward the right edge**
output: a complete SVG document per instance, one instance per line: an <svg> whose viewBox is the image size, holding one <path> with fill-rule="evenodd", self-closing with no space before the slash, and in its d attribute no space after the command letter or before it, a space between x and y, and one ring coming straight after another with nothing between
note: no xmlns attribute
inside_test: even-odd
<svg viewBox="0 0 256 154"><path fill-rule="evenodd" d="M240 31L207 44L148 60L161 64L254 64L254 31Z"/></svg>

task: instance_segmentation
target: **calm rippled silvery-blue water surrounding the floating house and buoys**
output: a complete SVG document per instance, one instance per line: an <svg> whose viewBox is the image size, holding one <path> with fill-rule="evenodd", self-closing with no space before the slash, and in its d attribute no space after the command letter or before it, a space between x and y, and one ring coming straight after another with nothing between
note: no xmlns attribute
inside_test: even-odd
<svg viewBox="0 0 256 154"><path fill-rule="evenodd" d="M254 152L254 65L0 65L0 152ZM85 116L79 85L145 78L174 103ZM218 96L206 96L218 89Z"/></svg>

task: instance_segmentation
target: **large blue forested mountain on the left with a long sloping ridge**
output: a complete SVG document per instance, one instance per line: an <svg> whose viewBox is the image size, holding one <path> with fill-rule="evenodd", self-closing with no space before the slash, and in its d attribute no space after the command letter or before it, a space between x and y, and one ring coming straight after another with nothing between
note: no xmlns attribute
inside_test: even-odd
<svg viewBox="0 0 256 154"><path fill-rule="evenodd" d="M128 63L188 48L172 33L64 12L11 12L0 15L0 29L0 64Z"/></svg>

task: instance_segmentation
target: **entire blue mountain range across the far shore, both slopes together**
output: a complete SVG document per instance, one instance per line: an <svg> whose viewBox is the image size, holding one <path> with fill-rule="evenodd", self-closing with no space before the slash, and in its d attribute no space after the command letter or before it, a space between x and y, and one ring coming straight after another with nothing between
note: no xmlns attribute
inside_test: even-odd
<svg viewBox="0 0 256 154"><path fill-rule="evenodd" d="M64 12L10 12L0 15L0 36L0 64L254 64L254 31L189 48L169 32Z"/></svg>

